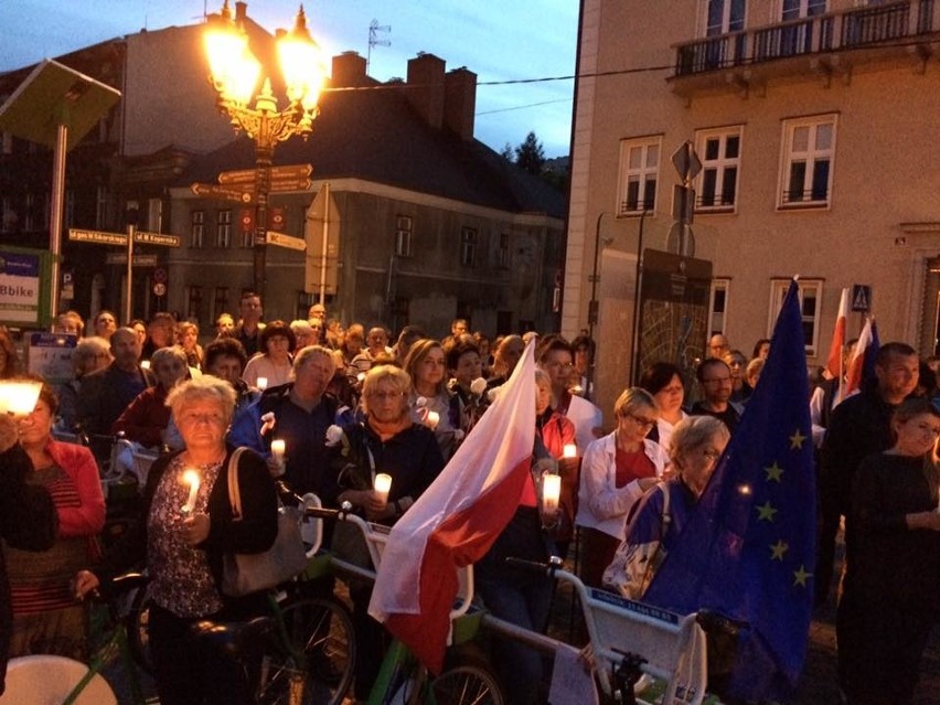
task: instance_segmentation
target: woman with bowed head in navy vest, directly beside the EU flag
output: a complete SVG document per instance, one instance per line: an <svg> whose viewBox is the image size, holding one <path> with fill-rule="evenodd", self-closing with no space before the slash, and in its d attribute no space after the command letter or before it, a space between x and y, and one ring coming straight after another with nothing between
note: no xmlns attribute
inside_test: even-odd
<svg viewBox="0 0 940 705"><path fill-rule="evenodd" d="M648 492L637 506L627 537L603 573L605 587L633 600L643 597L662 558L682 534L729 438L728 427L711 416L691 416L676 425L670 448L673 477ZM663 521L664 513L669 521Z"/></svg>

